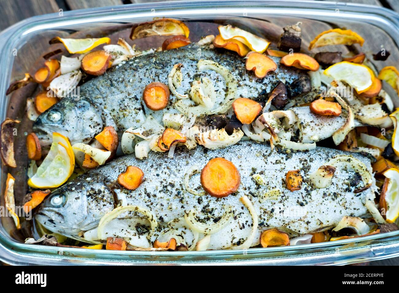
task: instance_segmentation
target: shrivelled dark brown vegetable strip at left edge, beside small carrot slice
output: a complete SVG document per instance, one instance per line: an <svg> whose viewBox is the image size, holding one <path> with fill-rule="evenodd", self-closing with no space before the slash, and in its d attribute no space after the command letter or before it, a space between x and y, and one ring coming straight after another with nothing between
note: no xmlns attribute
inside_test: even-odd
<svg viewBox="0 0 399 293"><path fill-rule="evenodd" d="M0 126L1 158L4 165L12 168L17 167L14 157L14 134L16 134L14 127L16 123L20 123L20 121L6 118Z"/></svg>

